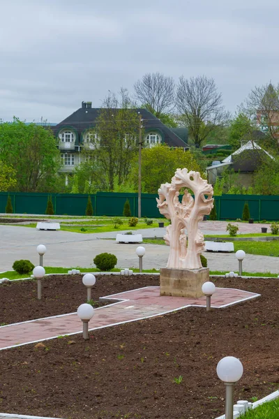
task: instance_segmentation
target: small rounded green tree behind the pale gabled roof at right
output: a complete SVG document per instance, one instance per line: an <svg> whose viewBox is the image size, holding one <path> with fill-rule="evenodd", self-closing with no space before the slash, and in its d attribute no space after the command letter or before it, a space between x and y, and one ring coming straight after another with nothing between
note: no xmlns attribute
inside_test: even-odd
<svg viewBox="0 0 279 419"><path fill-rule="evenodd" d="M241 147L241 140L246 138L247 140L252 139L253 124L251 120L244 115L239 113L237 117L232 120L229 126L229 144L232 145L233 151Z"/></svg>

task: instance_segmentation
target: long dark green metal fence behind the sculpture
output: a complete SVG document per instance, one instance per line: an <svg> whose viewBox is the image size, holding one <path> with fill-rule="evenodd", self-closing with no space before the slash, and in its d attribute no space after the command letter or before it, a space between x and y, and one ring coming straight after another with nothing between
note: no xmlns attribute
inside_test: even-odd
<svg viewBox="0 0 279 419"><path fill-rule="evenodd" d="M88 195L75 193L23 193L1 192L0 212L4 213L8 195L14 214L45 214L47 199L52 196L57 215L85 215ZM142 193L142 216L160 217L156 193ZM133 216L137 216L137 193L98 192L91 195L93 214L97 216L121 216L124 203L130 201ZM243 206L248 202L250 216L255 221L279 220L279 196L223 195L216 196L216 212L220 220L241 219Z"/></svg>

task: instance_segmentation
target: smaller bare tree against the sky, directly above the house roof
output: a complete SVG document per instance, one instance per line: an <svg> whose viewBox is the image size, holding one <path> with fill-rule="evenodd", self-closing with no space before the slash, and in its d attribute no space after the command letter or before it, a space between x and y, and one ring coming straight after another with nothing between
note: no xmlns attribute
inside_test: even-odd
<svg viewBox="0 0 279 419"><path fill-rule="evenodd" d="M162 73L146 73L134 84L135 96L156 117L174 108L174 79Z"/></svg>

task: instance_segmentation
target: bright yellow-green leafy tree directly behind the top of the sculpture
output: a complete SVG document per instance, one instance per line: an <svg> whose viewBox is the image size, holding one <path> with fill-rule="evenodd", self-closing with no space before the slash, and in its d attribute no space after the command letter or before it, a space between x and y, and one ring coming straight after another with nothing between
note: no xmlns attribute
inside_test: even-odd
<svg viewBox="0 0 279 419"><path fill-rule="evenodd" d="M177 168L188 168L201 172L199 164L189 151L183 149L172 149L167 145L156 145L156 147L142 150L142 191L146 193L157 193L160 185L170 182ZM133 165L133 183L137 185L138 165Z"/></svg>

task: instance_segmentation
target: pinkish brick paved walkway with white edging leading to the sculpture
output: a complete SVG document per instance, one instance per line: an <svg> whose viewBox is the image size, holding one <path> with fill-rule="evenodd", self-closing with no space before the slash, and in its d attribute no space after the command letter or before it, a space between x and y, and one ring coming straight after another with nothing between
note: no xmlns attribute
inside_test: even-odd
<svg viewBox="0 0 279 419"><path fill-rule="evenodd" d="M232 288L216 288L216 293L211 298L211 307L227 307L258 296L259 294ZM191 305L196 307L205 307L206 305L206 297L197 299L161 297L160 287L158 286L109 295L103 297L103 299L117 302L96 309L95 315L89 322L89 330L160 316L169 311L176 311ZM76 313L6 325L0 327L0 350L79 332L82 332L82 322Z"/></svg>

